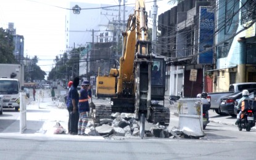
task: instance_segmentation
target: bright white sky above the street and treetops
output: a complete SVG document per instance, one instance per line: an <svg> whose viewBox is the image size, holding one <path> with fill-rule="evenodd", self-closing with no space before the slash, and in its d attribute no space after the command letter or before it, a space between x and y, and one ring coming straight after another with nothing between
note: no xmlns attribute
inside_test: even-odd
<svg viewBox="0 0 256 160"><path fill-rule="evenodd" d="M56 55L65 50L65 15L68 2L71 0L1 0L0 27L8 28L14 23L16 33L24 36L24 57L35 55L39 58L38 65L48 73L54 66ZM118 0L73 0L118 5ZM158 14L171 8L170 0L157 0ZM135 0L126 0L133 4ZM153 0L145 0L146 9L151 10ZM123 4L123 0L121 2ZM58 7L54 7L58 6ZM83 10L81 11L83 12ZM149 26L151 27L151 26Z"/></svg>

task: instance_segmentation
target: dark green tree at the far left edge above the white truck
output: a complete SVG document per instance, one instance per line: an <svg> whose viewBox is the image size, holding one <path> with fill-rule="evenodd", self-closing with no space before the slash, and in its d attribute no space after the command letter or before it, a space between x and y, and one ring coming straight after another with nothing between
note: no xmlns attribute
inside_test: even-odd
<svg viewBox="0 0 256 160"><path fill-rule="evenodd" d="M0 63L16 63L13 37L3 28L0 28Z"/></svg>

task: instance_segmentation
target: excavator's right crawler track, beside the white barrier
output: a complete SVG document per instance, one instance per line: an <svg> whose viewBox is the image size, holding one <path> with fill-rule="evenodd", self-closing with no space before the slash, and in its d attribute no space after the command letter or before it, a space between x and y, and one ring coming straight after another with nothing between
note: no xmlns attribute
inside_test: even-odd
<svg viewBox="0 0 256 160"><path fill-rule="evenodd" d="M151 113L149 116L149 121L156 124L159 122L160 124L168 125L170 122L170 110L162 105L151 106Z"/></svg>

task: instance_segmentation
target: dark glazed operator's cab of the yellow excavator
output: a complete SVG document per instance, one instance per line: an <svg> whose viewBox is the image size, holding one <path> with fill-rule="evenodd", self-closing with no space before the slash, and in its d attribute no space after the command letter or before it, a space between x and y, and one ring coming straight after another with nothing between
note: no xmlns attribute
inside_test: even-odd
<svg viewBox="0 0 256 160"><path fill-rule="evenodd" d="M152 59L151 70L151 100L164 100L165 98L165 70L163 58Z"/></svg>

